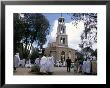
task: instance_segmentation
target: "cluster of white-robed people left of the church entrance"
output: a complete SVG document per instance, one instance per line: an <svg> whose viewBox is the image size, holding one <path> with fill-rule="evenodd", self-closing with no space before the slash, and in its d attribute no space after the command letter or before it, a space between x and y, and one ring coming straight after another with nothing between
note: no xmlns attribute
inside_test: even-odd
<svg viewBox="0 0 110 88"><path fill-rule="evenodd" d="M26 64L25 59L20 60L19 53L16 53L16 55L14 56L13 65L15 71L18 67L33 66L30 60L26 61ZM42 58L36 58L34 65L39 66L41 73L52 74L52 72L54 71L54 57L50 55L43 55Z"/></svg>

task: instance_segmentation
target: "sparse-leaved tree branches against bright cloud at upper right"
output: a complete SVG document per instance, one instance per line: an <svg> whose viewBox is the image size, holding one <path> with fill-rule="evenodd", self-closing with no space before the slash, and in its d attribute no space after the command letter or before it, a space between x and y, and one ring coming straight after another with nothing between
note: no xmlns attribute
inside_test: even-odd
<svg viewBox="0 0 110 88"><path fill-rule="evenodd" d="M79 21L84 22L85 30L81 34L80 48L92 47L97 43L97 13L73 13L71 19L74 20L74 25Z"/></svg>

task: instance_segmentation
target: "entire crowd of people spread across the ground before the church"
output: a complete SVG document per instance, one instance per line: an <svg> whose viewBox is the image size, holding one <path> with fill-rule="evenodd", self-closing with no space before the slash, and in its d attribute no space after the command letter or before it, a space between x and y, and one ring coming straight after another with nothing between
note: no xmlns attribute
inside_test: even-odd
<svg viewBox="0 0 110 88"><path fill-rule="evenodd" d="M87 59L87 60L85 59L81 63L76 61L74 63L74 66L72 66L73 63L71 63L71 60L69 60L69 58L68 60L66 60L66 62L64 63L64 66L67 66L67 72L70 72L70 69L72 68L74 69L74 72L77 72L77 73L79 72L83 74L91 73L92 63L90 59ZM25 59L20 60L19 53L16 53L16 55L14 55L13 65L14 65L13 67L15 71L16 71L16 68L20 66L32 67L30 60L28 61L25 61ZM36 58L34 65L39 66L41 73L49 73L49 74L52 74L54 72L54 66L58 65L59 67L59 64L57 63L57 61L55 64L54 57L50 55L49 56L43 55L41 58Z"/></svg>

